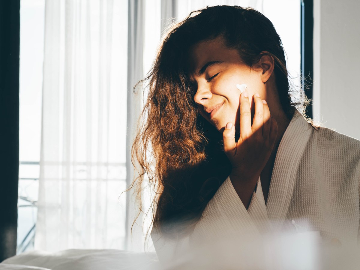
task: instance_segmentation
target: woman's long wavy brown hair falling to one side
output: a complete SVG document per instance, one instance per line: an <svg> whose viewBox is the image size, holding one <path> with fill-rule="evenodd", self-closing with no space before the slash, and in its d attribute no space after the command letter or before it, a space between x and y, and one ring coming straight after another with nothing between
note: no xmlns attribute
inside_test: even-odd
<svg viewBox="0 0 360 270"><path fill-rule="evenodd" d="M155 194L150 207L153 227L171 238L193 230L231 170L222 134L198 113L187 73L190 48L217 37L237 49L249 67L267 51L275 61L276 89L285 114L291 119L296 109L305 113L306 96L292 100L282 41L263 14L249 7L207 6L173 25L144 79L149 92L132 145L139 175L129 188L136 189L141 211L143 184L149 181Z"/></svg>

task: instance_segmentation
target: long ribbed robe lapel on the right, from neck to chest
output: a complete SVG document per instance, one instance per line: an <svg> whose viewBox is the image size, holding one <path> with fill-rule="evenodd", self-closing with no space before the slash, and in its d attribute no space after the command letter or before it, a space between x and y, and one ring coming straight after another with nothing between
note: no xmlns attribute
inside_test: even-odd
<svg viewBox="0 0 360 270"><path fill-rule="evenodd" d="M280 141L266 203L267 215L272 221L273 229L280 229L285 219L300 159L311 131L311 125L296 111Z"/></svg>

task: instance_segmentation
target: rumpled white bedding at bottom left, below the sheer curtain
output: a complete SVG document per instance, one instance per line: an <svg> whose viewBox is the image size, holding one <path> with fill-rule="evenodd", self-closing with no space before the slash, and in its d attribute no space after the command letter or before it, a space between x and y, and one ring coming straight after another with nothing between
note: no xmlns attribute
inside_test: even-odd
<svg viewBox="0 0 360 270"><path fill-rule="evenodd" d="M159 269L155 252L116 249L68 249L55 253L30 251L8 258L1 270L135 270Z"/></svg>

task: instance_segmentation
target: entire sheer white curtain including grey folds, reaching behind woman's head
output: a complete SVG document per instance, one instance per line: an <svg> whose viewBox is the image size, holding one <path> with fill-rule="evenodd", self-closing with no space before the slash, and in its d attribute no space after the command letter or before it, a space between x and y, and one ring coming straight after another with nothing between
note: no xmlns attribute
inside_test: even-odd
<svg viewBox="0 0 360 270"><path fill-rule="evenodd" d="M132 89L149 71L168 22L217 4L259 11L263 5L256 0L46 0L35 248L143 250L151 217L142 228L141 215L131 237L134 197L120 196L134 177L130 147L143 105L141 86Z"/></svg>

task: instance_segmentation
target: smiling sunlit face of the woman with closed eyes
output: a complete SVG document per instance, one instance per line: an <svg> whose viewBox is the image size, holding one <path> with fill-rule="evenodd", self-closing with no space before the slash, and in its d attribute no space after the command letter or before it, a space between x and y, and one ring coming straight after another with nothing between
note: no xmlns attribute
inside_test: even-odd
<svg viewBox="0 0 360 270"><path fill-rule="evenodd" d="M221 132L228 122L234 123L239 132L241 92L236 85L247 85L249 100L256 93L267 100L264 79L269 76L264 75L261 67L254 70L244 64L238 51L226 48L221 38L194 45L189 60L190 80L196 91L194 101L199 113ZM253 115L253 102L251 110Z"/></svg>

